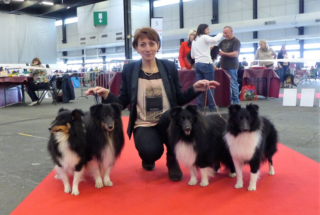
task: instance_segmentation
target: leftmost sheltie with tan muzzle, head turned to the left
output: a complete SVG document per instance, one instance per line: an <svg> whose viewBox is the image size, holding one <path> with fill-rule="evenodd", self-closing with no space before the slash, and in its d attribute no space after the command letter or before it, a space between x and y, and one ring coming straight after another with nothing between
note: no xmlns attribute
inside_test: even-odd
<svg viewBox="0 0 320 215"><path fill-rule="evenodd" d="M71 191L68 175L73 175L72 195L78 195L78 184L88 161L87 142L82 121L84 113L61 108L49 127L48 150L55 164L56 179L62 179L64 192Z"/></svg>

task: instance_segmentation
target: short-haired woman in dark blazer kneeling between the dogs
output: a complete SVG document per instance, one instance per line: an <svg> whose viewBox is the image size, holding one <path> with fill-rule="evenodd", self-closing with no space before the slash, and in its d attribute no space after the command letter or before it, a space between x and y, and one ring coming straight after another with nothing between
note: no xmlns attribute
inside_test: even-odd
<svg viewBox="0 0 320 215"><path fill-rule="evenodd" d="M206 86L215 88L219 83L200 80L186 91L182 91L175 63L156 59L160 48L158 33L149 27L137 29L132 47L141 55L139 61L124 64L122 85L119 96L102 87L88 89L85 95L101 96L102 103L119 103L125 108L130 104L127 134L133 139L142 160L142 168L155 169L155 161L160 159L167 147L167 168L173 181L182 179L182 172L173 148L167 144L169 110L182 106L196 98Z"/></svg>

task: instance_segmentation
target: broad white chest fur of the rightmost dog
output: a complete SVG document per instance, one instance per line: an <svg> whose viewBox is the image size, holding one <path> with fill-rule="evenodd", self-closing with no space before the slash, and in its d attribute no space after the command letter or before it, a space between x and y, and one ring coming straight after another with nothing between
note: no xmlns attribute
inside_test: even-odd
<svg viewBox="0 0 320 215"><path fill-rule="evenodd" d="M226 133L225 140L227 141L233 159L249 161L251 160L255 149L260 145L261 132L243 132L236 137L231 133Z"/></svg>

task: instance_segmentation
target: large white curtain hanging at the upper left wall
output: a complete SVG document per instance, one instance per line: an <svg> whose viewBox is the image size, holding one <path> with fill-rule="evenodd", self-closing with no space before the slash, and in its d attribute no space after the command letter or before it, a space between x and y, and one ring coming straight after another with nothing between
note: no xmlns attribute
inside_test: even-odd
<svg viewBox="0 0 320 215"><path fill-rule="evenodd" d="M55 19L0 13L0 29L0 63L56 63Z"/></svg>

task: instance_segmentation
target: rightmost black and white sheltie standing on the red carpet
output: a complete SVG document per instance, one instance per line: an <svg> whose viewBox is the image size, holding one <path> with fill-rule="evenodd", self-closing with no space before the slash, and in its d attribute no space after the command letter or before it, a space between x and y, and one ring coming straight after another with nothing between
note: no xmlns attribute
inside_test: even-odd
<svg viewBox="0 0 320 215"><path fill-rule="evenodd" d="M249 163L251 173L248 190L256 190L262 161L268 159L269 175L275 174L272 156L277 151L277 131L267 118L259 116L259 107L256 104L249 104L246 108L233 104L228 109L225 140L236 168L235 187L243 187L242 166Z"/></svg>

